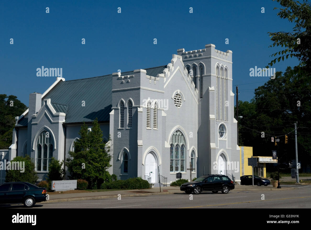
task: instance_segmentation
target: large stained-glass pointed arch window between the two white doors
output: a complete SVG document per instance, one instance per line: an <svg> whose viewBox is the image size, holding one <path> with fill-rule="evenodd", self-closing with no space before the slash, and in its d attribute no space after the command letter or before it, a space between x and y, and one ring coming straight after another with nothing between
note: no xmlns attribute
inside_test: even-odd
<svg viewBox="0 0 311 230"><path fill-rule="evenodd" d="M170 143L170 172L185 172L186 168L186 140L183 134L177 130L174 132Z"/></svg>

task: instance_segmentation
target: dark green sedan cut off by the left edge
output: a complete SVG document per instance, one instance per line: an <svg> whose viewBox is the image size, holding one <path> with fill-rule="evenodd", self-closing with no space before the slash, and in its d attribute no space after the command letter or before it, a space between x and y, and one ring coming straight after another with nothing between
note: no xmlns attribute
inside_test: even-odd
<svg viewBox="0 0 311 230"><path fill-rule="evenodd" d="M46 188L28 182L6 182L0 184L0 204L24 204L32 208L35 203L46 201Z"/></svg>

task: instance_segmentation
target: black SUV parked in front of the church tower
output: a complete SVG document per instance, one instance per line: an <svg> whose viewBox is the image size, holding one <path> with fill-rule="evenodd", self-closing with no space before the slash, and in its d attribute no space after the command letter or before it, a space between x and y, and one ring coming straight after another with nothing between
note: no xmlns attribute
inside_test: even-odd
<svg viewBox="0 0 311 230"><path fill-rule="evenodd" d="M234 189L233 181L228 176L221 174L201 176L192 182L187 182L180 186L180 191L184 191L187 194L192 192L200 194L203 191L211 191L212 193L221 191L227 194L232 189Z"/></svg>

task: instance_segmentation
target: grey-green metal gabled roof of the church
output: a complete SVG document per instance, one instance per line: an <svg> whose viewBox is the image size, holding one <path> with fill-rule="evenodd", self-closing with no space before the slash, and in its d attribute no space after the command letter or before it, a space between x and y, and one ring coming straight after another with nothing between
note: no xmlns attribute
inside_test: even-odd
<svg viewBox="0 0 311 230"><path fill-rule="evenodd" d="M163 65L145 70L147 75L156 76L162 74L166 67L166 65ZM122 73L122 75L132 74L134 74L134 71ZM66 113L65 123L92 122L96 117L98 121L107 122L112 107L111 90L112 74L59 81L58 84L54 84L53 88L42 95L42 105L44 99L51 98L51 104L55 111ZM82 106L82 101L84 101L85 106ZM22 117L17 126L21 126L22 122L27 126L28 119Z"/></svg>

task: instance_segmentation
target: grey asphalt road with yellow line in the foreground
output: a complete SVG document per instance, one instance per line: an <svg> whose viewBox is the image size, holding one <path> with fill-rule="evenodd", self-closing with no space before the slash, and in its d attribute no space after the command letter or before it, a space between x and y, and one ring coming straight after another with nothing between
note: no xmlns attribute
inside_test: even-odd
<svg viewBox="0 0 311 230"><path fill-rule="evenodd" d="M79 200L58 203L38 203L33 208L311 208L311 185L282 185L295 187L283 191L230 191L228 194L185 193ZM264 195L264 196L263 196ZM24 208L7 205L0 208Z"/></svg>

